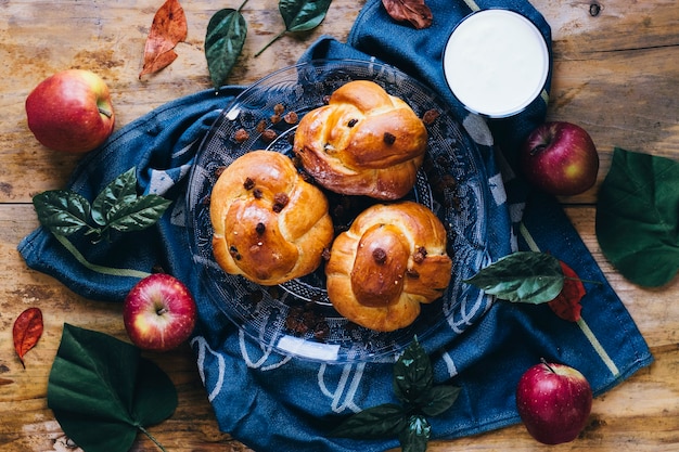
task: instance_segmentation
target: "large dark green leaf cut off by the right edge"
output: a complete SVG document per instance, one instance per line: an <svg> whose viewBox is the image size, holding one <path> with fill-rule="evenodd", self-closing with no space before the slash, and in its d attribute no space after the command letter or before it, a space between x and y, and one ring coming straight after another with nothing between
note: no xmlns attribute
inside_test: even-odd
<svg viewBox="0 0 679 452"><path fill-rule="evenodd" d="M616 147L599 191L597 238L606 259L640 286L679 270L679 163Z"/></svg>

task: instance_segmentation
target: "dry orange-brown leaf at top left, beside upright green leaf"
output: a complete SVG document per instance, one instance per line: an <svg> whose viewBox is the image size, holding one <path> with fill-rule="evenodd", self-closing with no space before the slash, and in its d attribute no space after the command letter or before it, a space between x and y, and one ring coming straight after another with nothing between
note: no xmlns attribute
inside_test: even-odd
<svg viewBox="0 0 679 452"><path fill-rule="evenodd" d="M139 78L167 67L177 59L175 46L187 39L189 28L179 0L167 0L153 17L144 46L144 67Z"/></svg>

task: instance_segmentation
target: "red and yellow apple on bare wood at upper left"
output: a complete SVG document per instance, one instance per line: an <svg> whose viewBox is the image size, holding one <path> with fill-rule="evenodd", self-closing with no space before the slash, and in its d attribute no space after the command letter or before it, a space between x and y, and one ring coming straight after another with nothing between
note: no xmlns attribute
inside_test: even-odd
<svg viewBox="0 0 679 452"><path fill-rule="evenodd" d="M113 132L115 115L104 80L68 69L42 80L26 98L28 128L46 147L85 153Z"/></svg>

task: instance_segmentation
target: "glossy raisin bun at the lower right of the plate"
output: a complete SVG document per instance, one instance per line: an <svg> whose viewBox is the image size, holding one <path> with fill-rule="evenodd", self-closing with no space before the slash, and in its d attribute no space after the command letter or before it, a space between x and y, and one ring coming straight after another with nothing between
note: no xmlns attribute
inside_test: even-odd
<svg viewBox="0 0 679 452"><path fill-rule="evenodd" d="M369 207L333 243L328 296L359 325L380 332L408 326L420 305L441 297L450 283L446 242L440 220L421 204Z"/></svg>

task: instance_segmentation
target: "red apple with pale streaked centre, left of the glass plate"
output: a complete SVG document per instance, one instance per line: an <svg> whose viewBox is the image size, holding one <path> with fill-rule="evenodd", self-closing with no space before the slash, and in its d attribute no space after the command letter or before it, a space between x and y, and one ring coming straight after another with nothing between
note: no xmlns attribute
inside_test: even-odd
<svg viewBox="0 0 679 452"><path fill-rule="evenodd" d="M143 350L178 347L193 332L196 317L195 301L187 286L165 273L141 280L123 305L127 334Z"/></svg>

